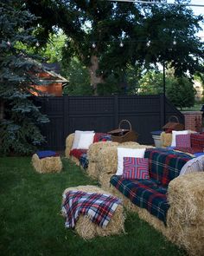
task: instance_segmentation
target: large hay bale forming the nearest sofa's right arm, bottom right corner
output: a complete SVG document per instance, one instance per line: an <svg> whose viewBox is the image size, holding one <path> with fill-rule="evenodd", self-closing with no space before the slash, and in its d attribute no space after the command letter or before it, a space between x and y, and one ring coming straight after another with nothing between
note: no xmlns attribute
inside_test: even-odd
<svg viewBox="0 0 204 256"><path fill-rule="evenodd" d="M169 183L169 235L192 255L204 255L203 195L204 173L185 174Z"/></svg>

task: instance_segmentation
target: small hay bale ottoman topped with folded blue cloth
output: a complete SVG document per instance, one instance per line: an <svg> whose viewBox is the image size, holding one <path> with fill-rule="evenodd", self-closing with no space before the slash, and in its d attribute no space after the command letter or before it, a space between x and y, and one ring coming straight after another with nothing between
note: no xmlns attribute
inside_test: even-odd
<svg viewBox="0 0 204 256"><path fill-rule="evenodd" d="M35 171L40 174L60 173L62 168L61 157L54 151L38 151L32 156Z"/></svg>

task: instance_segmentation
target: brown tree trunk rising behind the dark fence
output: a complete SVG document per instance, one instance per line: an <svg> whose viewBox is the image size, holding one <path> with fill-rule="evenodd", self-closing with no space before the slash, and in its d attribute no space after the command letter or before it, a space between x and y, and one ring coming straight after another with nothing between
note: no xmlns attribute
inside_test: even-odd
<svg viewBox="0 0 204 256"><path fill-rule="evenodd" d="M91 63L92 65L88 68L90 78L91 78L91 84L93 89L93 94L98 95L97 93L97 85L99 83L104 83L103 75L97 75L97 69L99 69L99 58L98 56L91 56Z"/></svg>

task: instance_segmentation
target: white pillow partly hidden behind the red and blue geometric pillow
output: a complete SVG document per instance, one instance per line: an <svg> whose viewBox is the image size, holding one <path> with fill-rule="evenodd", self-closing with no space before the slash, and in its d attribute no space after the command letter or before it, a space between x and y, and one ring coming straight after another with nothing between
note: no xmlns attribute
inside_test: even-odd
<svg viewBox="0 0 204 256"><path fill-rule="evenodd" d="M116 175L122 175L124 171L124 157L143 158L146 148L117 148L118 149L118 169Z"/></svg>

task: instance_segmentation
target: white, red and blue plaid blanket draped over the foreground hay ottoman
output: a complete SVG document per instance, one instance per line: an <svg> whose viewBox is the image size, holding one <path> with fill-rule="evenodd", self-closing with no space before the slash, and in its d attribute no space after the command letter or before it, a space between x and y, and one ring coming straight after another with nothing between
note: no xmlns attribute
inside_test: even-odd
<svg viewBox="0 0 204 256"><path fill-rule="evenodd" d="M63 194L64 203L61 211L66 217L66 227L73 227L80 216L86 215L95 224L105 227L108 225L118 204L116 197L107 194L86 193L83 191L68 191Z"/></svg>

